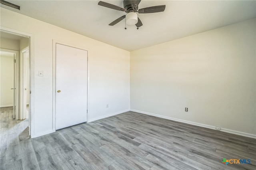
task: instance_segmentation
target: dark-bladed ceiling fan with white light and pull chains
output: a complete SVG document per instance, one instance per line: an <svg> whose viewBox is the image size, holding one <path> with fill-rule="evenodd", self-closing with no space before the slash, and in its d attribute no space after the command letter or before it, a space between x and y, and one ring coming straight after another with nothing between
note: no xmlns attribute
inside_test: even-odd
<svg viewBox="0 0 256 170"><path fill-rule="evenodd" d="M117 24L118 22L126 18L126 24L136 25L137 29L139 29L139 27L142 26L143 24L140 18L138 18L137 13L148 14L148 13L155 13L155 12L163 12L165 10L165 5L150 6L147 8L139 9L138 5L140 4L140 1L141 0L124 0L124 8L113 5L113 4L109 4L107 2L102 2L102 1L100 1L98 5L104 6L106 8L118 10L118 11L124 11L127 13L126 15L123 15L120 18L117 18L116 20L108 24L109 26L114 26L115 24Z"/></svg>

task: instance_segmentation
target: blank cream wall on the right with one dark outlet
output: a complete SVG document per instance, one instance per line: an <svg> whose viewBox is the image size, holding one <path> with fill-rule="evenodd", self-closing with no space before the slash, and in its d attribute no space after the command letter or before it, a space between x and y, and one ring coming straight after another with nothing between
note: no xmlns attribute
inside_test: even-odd
<svg viewBox="0 0 256 170"><path fill-rule="evenodd" d="M252 19L132 51L131 109L256 137L255 30Z"/></svg>

